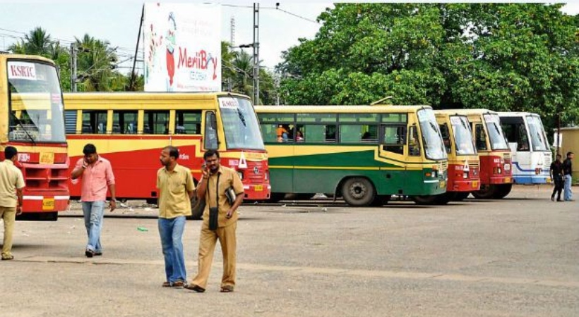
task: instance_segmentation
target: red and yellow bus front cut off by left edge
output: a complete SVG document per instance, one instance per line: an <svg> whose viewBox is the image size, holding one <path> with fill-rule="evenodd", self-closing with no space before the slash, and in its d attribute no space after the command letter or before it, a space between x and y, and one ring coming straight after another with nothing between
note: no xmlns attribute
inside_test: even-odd
<svg viewBox="0 0 579 317"><path fill-rule="evenodd" d="M23 213L18 220L56 220L68 209L68 155L59 76L40 56L0 54L0 157L18 149Z"/></svg>

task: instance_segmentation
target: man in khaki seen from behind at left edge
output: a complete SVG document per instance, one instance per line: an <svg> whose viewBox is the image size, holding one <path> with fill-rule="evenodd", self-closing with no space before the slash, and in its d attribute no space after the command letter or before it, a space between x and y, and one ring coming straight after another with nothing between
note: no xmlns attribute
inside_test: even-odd
<svg viewBox="0 0 579 317"><path fill-rule="evenodd" d="M4 161L0 163L0 217L4 220L2 260L12 260L12 234L16 214L22 213L22 189L24 178L14 162L18 159L15 147L4 149Z"/></svg>

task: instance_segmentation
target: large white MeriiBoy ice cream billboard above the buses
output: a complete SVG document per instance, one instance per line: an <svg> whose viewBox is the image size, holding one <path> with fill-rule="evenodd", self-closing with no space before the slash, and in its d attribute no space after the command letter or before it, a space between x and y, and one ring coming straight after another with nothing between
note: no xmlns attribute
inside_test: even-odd
<svg viewBox="0 0 579 317"><path fill-rule="evenodd" d="M221 7L145 4L145 92L221 90Z"/></svg>

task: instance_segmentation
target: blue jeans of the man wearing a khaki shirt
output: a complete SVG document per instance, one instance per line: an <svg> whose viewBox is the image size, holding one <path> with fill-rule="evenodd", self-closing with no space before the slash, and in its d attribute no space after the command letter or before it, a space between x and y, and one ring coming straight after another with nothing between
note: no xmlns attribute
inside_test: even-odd
<svg viewBox="0 0 579 317"><path fill-rule="evenodd" d="M161 247L165 257L165 275L167 282L177 280L187 281L185 272L185 256L183 254L183 231L186 219L184 216L176 218L159 218L159 235Z"/></svg>

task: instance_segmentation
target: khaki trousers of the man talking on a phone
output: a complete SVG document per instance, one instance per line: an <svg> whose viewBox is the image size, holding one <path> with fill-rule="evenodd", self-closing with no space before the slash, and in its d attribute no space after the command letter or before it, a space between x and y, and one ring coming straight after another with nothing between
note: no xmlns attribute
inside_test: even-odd
<svg viewBox="0 0 579 317"><path fill-rule="evenodd" d="M237 261L236 230L237 222L227 227L217 228L215 231L209 230L208 223L203 222L203 225L201 225L201 237L199 237L197 275L193 278L193 284L207 288L207 280L211 272L211 263L213 263L215 242L219 239L223 253L221 287L235 285L235 263Z"/></svg>

